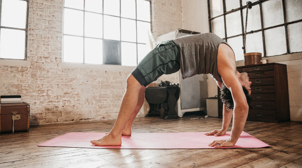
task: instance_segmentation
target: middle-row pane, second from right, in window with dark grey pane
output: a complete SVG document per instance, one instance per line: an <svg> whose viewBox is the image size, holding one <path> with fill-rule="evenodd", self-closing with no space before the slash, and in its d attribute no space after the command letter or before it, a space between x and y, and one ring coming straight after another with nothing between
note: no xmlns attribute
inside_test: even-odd
<svg viewBox="0 0 302 168"><path fill-rule="evenodd" d="M122 41L136 42L135 20L121 19Z"/></svg>

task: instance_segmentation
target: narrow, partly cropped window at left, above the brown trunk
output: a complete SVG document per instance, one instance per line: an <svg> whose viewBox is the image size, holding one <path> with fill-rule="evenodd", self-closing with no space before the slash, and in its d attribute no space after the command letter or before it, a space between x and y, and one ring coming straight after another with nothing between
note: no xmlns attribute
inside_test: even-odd
<svg viewBox="0 0 302 168"><path fill-rule="evenodd" d="M0 0L0 59L26 58L27 3L26 0Z"/></svg>

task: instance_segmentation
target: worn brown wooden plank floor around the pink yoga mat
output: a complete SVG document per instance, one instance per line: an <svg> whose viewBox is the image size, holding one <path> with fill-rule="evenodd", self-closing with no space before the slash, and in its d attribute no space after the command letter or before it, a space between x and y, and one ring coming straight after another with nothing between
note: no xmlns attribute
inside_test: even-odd
<svg viewBox="0 0 302 168"><path fill-rule="evenodd" d="M32 126L28 133L0 134L0 167L302 167L302 122L246 122L244 131L271 148L150 150L37 146L68 132L110 131L114 122ZM222 119L203 116L171 120L141 117L135 119L132 132L204 132L221 128L221 122Z"/></svg>

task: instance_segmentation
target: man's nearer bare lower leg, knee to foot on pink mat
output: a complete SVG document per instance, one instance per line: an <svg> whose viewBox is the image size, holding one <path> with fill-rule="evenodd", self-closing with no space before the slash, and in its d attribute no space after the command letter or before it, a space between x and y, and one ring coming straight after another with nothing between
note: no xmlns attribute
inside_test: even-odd
<svg viewBox="0 0 302 168"><path fill-rule="evenodd" d="M141 88L141 84L134 78L132 74L130 74L127 78L126 92L120 106L120 111L112 130L101 139L90 141L92 144L98 146L118 146L122 144L122 132L131 115L135 111L135 108L138 104L139 91Z"/></svg>

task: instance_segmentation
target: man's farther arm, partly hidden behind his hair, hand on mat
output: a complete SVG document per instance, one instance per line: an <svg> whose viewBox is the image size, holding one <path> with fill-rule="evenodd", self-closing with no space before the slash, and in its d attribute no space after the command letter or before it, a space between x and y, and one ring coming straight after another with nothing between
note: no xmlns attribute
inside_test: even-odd
<svg viewBox="0 0 302 168"><path fill-rule="evenodd" d="M216 82L218 87L221 89L221 85L222 82ZM209 133L205 133L205 135L213 135L217 137L219 135L224 135L227 130L228 130L228 126L231 123L232 120L232 116L233 116L233 111L232 110L227 110L227 108L225 107L225 104L223 104L223 110L222 110L222 128L221 130L214 130L211 131Z"/></svg>

